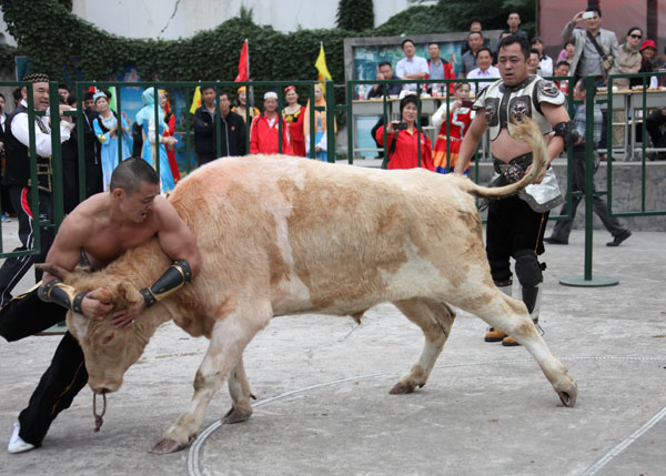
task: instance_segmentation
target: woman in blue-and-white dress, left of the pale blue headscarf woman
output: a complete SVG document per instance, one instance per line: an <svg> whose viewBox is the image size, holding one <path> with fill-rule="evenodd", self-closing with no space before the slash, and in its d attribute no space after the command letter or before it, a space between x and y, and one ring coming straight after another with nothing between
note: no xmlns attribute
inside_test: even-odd
<svg viewBox="0 0 666 476"><path fill-rule="evenodd" d="M102 144L102 190L108 192L111 183L111 174L113 173L113 169L115 169L119 163L118 119L115 118L115 113L109 109L109 98L103 91L97 92L92 99L94 101L94 107L100 114L99 118L95 118L92 121L92 126L94 128L95 135ZM131 156L129 142L131 126L130 121L128 121L124 112L122 113L122 120L120 122L122 124L122 156L120 160L125 160Z"/></svg>

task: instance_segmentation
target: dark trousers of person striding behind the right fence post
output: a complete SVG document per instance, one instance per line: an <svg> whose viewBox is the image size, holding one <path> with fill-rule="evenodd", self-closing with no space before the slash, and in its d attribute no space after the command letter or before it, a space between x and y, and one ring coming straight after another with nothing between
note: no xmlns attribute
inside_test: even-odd
<svg viewBox="0 0 666 476"><path fill-rule="evenodd" d="M595 151L595 170L594 170L595 172L596 172L597 166L598 166L598 155ZM574 148L574 183L573 183L572 190L574 190L575 192L585 193L585 146L584 145L583 146L577 145ZM595 189L594 189L594 182L593 182L592 191L594 192L594 190ZM553 234L551 235L551 237L554 237L555 240L559 240L559 241L568 241L568 235L572 232L572 229L574 227L574 217L576 216L576 209L578 207L578 204L581 203L582 200L583 200L582 196L572 198L572 219L571 220L559 220L559 221L555 222L555 227L553 229ZM601 196L594 195L594 198L592 200L593 200L593 204L594 204L594 213L596 213L597 216L599 219L602 219L604 226L606 226L606 230L608 230L613 236L617 236L627 231L626 226L624 226L619 220L608 215L608 212L606 210L607 209L606 202ZM567 214L566 205L567 204L565 203L562 206L562 211L559 212L561 215Z"/></svg>

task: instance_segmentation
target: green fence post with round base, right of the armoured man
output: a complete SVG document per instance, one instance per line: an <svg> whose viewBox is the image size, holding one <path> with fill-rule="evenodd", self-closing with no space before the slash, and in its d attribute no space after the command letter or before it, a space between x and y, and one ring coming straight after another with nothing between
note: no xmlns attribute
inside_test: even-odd
<svg viewBox="0 0 666 476"><path fill-rule="evenodd" d="M613 84L612 80L608 79L608 84ZM594 226L594 91L595 83L594 77L585 78L586 95L585 95L585 274L584 276L567 276L559 280L561 284L567 286L578 287L602 287L602 286L614 286L619 284L619 280L608 276L593 276L592 275L592 251L593 251L593 226ZM608 89L610 92L610 88ZM612 103L612 102L610 102ZM613 110L609 110L608 121L613 121ZM613 149L613 134L608 135L610 141L610 148ZM610 154L608 154L610 160Z"/></svg>

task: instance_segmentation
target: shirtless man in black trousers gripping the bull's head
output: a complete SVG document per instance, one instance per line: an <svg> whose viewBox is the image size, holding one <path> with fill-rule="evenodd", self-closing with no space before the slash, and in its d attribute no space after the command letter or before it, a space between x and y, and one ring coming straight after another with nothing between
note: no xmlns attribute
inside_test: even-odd
<svg viewBox="0 0 666 476"><path fill-rule="evenodd" d="M91 196L67 216L47 255L48 264L68 271L79 263L99 270L157 236L174 263L152 286L141 290L144 301L113 310L93 297L100 290L74 295L71 286L44 273L41 285L2 307L0 335L8 341L23 338L64 321L70 310L89 318L103 318L113 312L115 326L129 327L144 307L196 276L200 260L194 234L159 192L159 176L143 159L125 160L113 171L110 192ZM87 382L83 353L68 332L30 404L19 415L8 452L40 446L58 413L70 406Z"/></svg>

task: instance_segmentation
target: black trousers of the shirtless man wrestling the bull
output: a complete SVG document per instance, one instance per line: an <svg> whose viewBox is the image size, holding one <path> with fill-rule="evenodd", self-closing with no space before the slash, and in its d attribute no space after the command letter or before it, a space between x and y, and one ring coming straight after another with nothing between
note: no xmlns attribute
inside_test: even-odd
<svg viewBox="0 0 666 476"><path fill-rule="evenodd" d="M67 310L58 304L42 302L36 288L16 296L0 308L0 335L9 342L18 341L63 321L65 314ZM68 332L32 393L28 407L19 415L19 436L40 446L51 423L60 412L70 407L87 382L83 351Z"/></svg>

